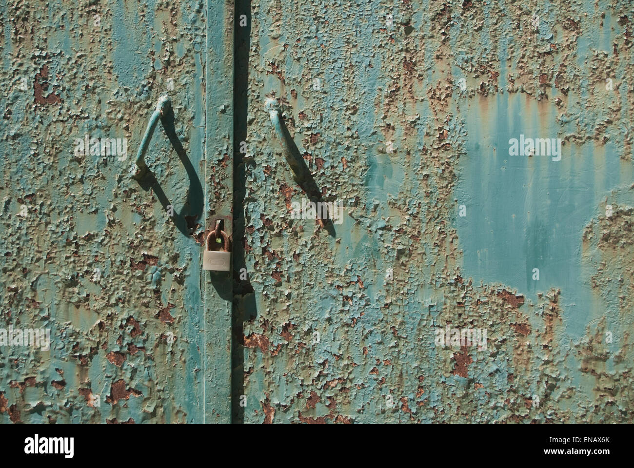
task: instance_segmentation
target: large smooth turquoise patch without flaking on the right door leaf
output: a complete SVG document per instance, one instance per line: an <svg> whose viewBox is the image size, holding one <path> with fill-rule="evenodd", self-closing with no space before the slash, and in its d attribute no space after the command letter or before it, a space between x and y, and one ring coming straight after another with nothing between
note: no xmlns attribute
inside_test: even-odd
<svg viewBox="0 0 634 468"><path fill-rule="evenodd" d="M574 317L567 331L578 339L583 324L602 313L593 308L589 277L580 271L582 231L599 214L605 194L631 177L631 167L619 159L618 136L596 155L592 143L568 143L559 162L509 156L508 139L520 133L553 138L574 132L573 122L557 125L552 104L538 106L504 94L486 114L474 102L462 109L467 157L457 192L470 214L456 216L456 226L470 276L533 294L561 288ZM531 279L532 268L540 268L540 282Z"/></svg>

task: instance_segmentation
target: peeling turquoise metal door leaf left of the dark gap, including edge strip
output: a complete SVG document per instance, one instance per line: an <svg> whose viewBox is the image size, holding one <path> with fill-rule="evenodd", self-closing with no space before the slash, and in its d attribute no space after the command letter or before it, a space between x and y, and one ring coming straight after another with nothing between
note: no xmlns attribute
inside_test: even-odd
<svg viewBox="0 0 634 468"><path fill-rule="evenodd" d="M0 420L228 422L231 279L201 256L231 232L233 4L1 11Z"/></svg>

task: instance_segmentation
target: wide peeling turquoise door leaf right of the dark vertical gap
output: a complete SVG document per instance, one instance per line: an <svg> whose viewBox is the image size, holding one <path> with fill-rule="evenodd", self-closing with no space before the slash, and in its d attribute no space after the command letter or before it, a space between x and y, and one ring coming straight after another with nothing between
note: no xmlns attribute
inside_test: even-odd
<svg viewBox="0 0 634 468"><path fill-rule="evenodd" d="M245 6L238 418L631 422L631 4ZM269 97L342 224L293 219Z"/></svg>

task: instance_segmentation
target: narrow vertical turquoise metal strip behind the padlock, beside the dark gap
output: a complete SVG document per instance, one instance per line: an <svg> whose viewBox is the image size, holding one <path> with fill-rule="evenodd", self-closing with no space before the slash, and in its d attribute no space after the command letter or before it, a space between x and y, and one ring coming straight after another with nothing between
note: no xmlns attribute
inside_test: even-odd
<svg viewBox="0 0 634 468"><path fill-rule="evenodd" d="M207 0L205 232L214 228L216 219L223 219L223 230L229 235L233 204L233 10L233 0ZM200 274L204 287L204 422L230 423L233 271L201 269Z"/></svg>

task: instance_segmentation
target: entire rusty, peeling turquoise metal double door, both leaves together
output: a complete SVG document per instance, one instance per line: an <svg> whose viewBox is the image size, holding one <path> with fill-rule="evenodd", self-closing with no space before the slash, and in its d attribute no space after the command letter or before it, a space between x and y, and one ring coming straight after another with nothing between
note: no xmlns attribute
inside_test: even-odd
<svg viewBox="0 0 634 468"><path fill-rule="evenodd" d="M0 18L1 423L633 422L629 2Z"/></svg>

